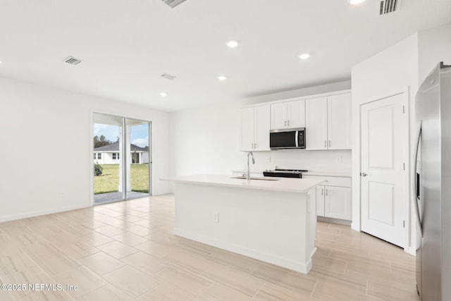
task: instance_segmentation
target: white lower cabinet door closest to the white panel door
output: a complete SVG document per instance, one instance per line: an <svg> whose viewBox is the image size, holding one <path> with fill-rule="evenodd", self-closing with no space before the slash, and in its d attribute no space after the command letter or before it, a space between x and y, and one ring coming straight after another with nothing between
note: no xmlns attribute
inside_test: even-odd
<svg viewBox="0 0 451 301"><path fill-rule="evenodd" d="M324 186L324 216L351 220L351 188Z"/></svg>

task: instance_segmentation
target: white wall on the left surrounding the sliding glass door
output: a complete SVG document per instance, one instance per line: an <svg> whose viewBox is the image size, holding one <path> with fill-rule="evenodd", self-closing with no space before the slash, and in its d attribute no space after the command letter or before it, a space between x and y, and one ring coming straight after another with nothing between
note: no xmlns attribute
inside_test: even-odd
<svg viewBox="0 0 451 301"><path fill-rule="evenodd" d="M152 121L153 192L170 190L168 113L5 78L0 99L0 221L91 205L92 111Z"/></svg>

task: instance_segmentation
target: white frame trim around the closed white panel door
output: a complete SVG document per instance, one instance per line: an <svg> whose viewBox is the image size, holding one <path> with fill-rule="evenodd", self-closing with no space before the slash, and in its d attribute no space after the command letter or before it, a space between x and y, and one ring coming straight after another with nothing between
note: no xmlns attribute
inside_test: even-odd
<svg viewBox="0 0 451 301"><path fill-rule="evenodd" d="M362 100L354 100L352 105L352 114L357 116L353 118L354 121L354 139L352 147L352 155L354 159L352 160L352 229L356 231L362 231L362 178L360 172L362 170L362 115L361 110L364 104L369 104L371 102L377 102L381 99L386 99L388 97L393 97L395 95L403 95L402 104L404 106L404 112L407 114L406 118L402 122L402 136L405 137L404 143L407 144L407 150L404 151L404 164L405 173L403 176L404 183L404 195L406 199L403 202L403 207L405 208L403 212L403 219L405 221L404 226L404 248L405 252L409 252L410 245L410 233L412 231L411 227L411 193L410 193L410 166L411 166L411 150L410 150L410 106L409 106L409 86L402 87L394 90L390 90L373 97L367 97ZM357 123L357 124L355 124Z"/></svg>

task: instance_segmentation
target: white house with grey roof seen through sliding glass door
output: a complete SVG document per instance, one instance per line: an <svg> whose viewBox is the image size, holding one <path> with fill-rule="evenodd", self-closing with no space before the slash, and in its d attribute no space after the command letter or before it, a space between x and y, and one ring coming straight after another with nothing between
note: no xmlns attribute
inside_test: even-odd
<svg viewBox="0 0 451 301"><path fill-rule="evenodd" d="M94 163L119 164L119 142L111 143L94 149ZM132 163L149 163L149 147L139 147L130 144L130 157Z"/></svg>

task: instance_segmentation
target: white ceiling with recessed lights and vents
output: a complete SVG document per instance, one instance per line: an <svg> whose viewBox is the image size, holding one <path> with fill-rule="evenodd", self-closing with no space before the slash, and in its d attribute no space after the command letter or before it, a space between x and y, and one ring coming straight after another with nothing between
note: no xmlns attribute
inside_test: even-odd
<svg viewBox="0 0 451 301"><path fill-rule="evenodd" d="M379 2L0 0L0 76L173 111L347 80L356 63L451 22L450 0L402 0L387 16Z"/></svg>

